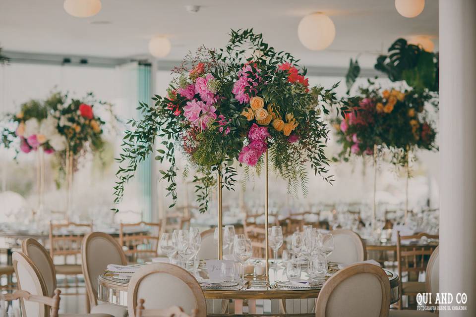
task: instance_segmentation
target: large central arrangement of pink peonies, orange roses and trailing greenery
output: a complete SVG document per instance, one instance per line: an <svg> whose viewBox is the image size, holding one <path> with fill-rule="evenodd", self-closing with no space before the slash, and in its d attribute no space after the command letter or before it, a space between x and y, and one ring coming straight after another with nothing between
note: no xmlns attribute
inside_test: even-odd
<svg viewBox="0 0 476 317"><path fill-rule="evenodd" d="M252 56L244 57L246 52ZM116 203L124 184L133 177L139 162L153 153L170 163L161 170L168 191L177 200L175 150L180 149L197 170L194 177L200 211L207 210L208 193L215 172L223 175L224 186L233 189L236 162L247 171L258 171L263 154L270 153L276 172L288 181L288 189L301 187L306 193L309 163L313 171L328 176L324 154L328 129L321 112L338 101L330 89L309 87L306 70L291 54L277 52L252 29L231 31L224 49L201 47L185 56L174 68L168 96L154 96L154 106L140 104L144 116L130 120L135 128L126 131L119 162ZM175 204L175 203L174 203ZM172 204L170 207L173 207ZM117 211L117 210L116 210Z"/></svg>

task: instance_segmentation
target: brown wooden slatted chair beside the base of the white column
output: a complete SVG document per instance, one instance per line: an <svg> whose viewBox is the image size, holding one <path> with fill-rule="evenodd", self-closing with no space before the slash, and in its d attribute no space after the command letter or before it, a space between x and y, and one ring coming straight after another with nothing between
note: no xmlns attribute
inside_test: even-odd
<svg viewBox="0 0 476 317"><path fill-rule="evenodd" d="M434 248L431 246L402 245L402 240L419 240L422 237L438 239L438 236L427 233L400 236L400 231L397 231L397 263L400 276L400 301L397 306L399 309L402 309L403 306L402 296L416 296L418 293L425 292L425 282L419 282L418 276L420 273L425 273L428 260ZM407 275L407 281L405 282L402 281L403 273Z"/></svg>

